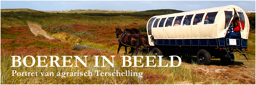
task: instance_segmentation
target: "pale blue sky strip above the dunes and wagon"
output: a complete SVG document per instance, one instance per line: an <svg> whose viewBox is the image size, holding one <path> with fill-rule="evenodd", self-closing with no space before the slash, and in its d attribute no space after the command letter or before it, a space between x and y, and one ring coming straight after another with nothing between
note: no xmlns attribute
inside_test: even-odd
<svg viewBox="0 0 256 85"><path fill-rule="evenodd" d="M181 11L236 5L255 11L255 1L1 1L1 9L29 8L42 11L75 9L136 10L175 9Z"/></svg>

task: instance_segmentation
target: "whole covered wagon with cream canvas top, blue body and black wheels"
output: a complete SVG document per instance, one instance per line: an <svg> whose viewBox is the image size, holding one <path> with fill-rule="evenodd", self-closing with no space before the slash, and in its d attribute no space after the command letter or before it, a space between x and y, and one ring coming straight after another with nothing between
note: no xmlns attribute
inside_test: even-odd
<svg viewBox="0 0 256 85"><path fill-rule="evenodd" d="M236 31L240 35L227 37L238 24ZM211 58L233 64L233 54L245 56L249 29L247 15L235 5L153 16L147 23L152 52L196 55L198 63L203 65L209 65Z"/></svg>

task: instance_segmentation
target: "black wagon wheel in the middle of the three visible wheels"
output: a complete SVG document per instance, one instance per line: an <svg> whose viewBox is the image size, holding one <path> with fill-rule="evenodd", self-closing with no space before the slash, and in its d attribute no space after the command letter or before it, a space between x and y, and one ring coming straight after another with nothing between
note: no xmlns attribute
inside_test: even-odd
<svg viewBox="0 0 256 85"><path fill-rule="evenodd" d="M196 55L196 59L199 65L209 65L211 63L211 55L208 51L200 50Z"/></svg>

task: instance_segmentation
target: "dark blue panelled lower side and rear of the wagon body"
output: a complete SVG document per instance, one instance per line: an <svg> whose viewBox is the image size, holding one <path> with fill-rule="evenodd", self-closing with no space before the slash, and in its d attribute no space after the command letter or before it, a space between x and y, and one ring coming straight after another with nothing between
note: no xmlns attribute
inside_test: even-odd
<svg viewBox="0 0 256 85"><path fill-rule="evenodd" d="M236 45L230 45L229 39L235 39ZM218 39L154 39L155 46L184 46L184 47L232 47L247 48L247 39L218 38Z"/></svg>

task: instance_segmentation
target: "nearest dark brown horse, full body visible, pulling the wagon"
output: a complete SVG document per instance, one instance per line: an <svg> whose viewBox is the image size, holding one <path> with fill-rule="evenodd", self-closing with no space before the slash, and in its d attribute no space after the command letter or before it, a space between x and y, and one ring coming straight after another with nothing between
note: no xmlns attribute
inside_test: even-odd
<svg viewBox="0 0 256 85"><path fill-rule="evenodd" d="M131 47L131 52L133 55L133 52L139 52L139 47L140 47L140 43L139 43L139 38L134 35L134 34L123 34L123 32L121 31L120 28L115 28L115 32L116 32L116 38L118 39L119 42L119 47L117 49L117 53L119 53L119 50L122 46L124 46L125 48L125 53L127 54L127 47Z"/></svg>

